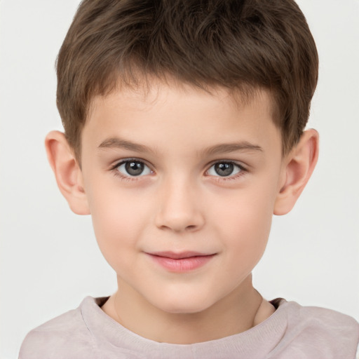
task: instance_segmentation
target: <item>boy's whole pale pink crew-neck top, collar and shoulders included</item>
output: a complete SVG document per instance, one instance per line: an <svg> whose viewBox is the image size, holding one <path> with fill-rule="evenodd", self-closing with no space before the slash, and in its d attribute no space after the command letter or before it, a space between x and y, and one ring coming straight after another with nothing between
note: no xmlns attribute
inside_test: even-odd
<svg viewBox="0 0 359 359"><path fill-rule="evenodd" d="M279 301L264 322L245 332L197 344L158 343L105 314L107 297L86 297L79 308L27 334L20 359L353 359L359 324L344 314Z"/></svg>

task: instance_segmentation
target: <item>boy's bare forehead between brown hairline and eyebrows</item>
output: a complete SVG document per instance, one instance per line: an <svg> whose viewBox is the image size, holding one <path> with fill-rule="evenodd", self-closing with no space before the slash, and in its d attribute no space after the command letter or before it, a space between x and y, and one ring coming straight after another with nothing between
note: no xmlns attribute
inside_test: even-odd
<svg viewBox="0 0 359 359"><path fill-rule="evenodd" d="M203 89L157 81L94 97L83 140L99 146L108 138L126 137L156 147L235 140L269 145L273 140L271 145L278 142L280 147L272 108L266 90Z"/></svg>

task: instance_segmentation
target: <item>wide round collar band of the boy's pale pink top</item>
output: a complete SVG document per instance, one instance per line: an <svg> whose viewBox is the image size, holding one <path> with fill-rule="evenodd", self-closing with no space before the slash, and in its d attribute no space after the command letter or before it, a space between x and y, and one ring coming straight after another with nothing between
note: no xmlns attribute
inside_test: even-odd
<svg viewBox="0 0 359 359"><path fill-rule="evenodd" d="M131 332L100 308L108 298L86 297L80 310L100 353L126 353L126 358L257 359L264 358L285 334L287 313L294 302L280 301L278 309L259 325L222 339L196 344L158 343Z"/></svg>

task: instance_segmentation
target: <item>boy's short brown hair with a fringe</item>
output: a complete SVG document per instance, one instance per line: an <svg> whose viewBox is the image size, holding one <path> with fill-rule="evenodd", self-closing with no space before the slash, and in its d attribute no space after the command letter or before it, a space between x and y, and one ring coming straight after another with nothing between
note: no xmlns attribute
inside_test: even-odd
<svg viewBox="0 0 359 359"><path fill-rule="evenodd" d="M57 108L78 158L90 101L139 73L270 90L286 153L309 118L318 53L293 0L83 0L57 57Z"/></svg>

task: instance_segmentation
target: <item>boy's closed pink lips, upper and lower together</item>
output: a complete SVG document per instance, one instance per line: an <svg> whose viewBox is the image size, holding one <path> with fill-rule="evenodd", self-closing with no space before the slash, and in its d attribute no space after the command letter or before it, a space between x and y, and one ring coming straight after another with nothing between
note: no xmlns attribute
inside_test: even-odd
<svg viewBox="0 0 359 359"><path fill-rule="evenodd" d="M175 273L194 271L194 269L204 266L215 257L215 254L208 255L200 252L153 252L147 253L147 255L156 264Z"/></svg>

